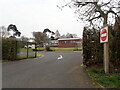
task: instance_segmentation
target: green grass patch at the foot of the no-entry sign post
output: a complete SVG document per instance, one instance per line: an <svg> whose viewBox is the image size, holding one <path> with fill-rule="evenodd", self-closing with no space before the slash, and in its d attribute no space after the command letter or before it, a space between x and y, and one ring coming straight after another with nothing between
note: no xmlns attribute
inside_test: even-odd
<svg viewBox="0 0 120 90"><path fill-rule="evenodd" d="M120 73L114 73L107 76L105 75L104 70L95 68L88 69L87 72L89 76L93 78L93 80L103 85L104 87L120 88Z"/></svg>

